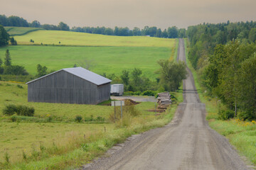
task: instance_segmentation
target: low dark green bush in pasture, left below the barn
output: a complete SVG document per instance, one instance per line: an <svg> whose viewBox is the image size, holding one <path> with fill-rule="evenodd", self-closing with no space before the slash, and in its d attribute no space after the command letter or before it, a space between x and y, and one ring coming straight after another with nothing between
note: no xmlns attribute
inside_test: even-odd
<svg viewBox="0 0 256 170"><path fill-rule="evenodd" d="M35 114L35 109L33 107L9 104L3 109L4 115L25 115L33 116Z"/></svg>

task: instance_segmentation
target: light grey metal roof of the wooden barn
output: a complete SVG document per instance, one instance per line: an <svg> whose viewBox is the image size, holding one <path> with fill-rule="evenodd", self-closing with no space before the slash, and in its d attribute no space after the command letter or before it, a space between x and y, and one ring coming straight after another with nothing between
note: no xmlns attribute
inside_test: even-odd
<svg viewBox="0 0 256 170"><path fill-rule="evenodd" d="M107 84L107 83L111 82L110 79L102 77L99 74L96 74L94 72L90 72L89 70L84 69L82 67L73 67L73 68L67 68L67 69L60 69L57 72L60 72L62 70L65 71L65 72L69 72L70 74L73 74L73 75L75 75L77 77L80 77L82 79L85 79L87 81L90 81L91 83L96 84L97 86L99 86L101 84ZM53 72L53 73L47 74L46 76L43 76L43 77L48 77L49 75L55 74L55 73L56 72ZM39 77L38 79L42 79L43 77ZM31 82L36 81L38 79L34 79L32 81L29 81L26 84L30 84Z"/></svg>

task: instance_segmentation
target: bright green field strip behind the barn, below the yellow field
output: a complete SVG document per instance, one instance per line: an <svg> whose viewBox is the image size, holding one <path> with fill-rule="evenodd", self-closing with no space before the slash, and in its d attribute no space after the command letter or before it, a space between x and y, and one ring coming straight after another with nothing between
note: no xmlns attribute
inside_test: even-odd
<svg viewBox="0 0 256 170"><path fill-rule="evenodd" d="M89 62L91 71L97 74L121 74L123 69L142 69L145 77L154 79L159 68L157 61L171 57L171 47L60 47L16 45L0 48L0 56L6 49L11 53L13 64L22 65L28 73L36 74L36 65L48 70L73 67ZM174 48L175 49L175 48ZM3 57L2 57L3 58Z"/></svg>

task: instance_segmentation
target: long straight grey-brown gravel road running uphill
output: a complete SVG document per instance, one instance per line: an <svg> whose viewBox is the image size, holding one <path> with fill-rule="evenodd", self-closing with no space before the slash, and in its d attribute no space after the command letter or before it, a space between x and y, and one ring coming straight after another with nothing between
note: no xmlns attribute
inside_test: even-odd
<svg viewBox="0 0 256 170"><path fill-rule="evenodd" d="M182 39L178 60L186 60ZM169 125L129 137L82 169L248 169L228 140L208 127L206 107L188 72L184 102Z"/></svg>

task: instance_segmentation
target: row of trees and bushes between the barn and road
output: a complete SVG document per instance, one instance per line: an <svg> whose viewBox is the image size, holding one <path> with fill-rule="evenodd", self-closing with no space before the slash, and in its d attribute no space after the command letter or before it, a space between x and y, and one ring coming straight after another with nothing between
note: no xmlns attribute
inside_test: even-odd
<svg viewBox="0 0 256 170"><path fill-rule="evenodd" d="M112 80L114 84L124 84L124 91L135 92L139 95L144 91L176 91L181 86L183 79L186 79L186 64L184 62L170 62L159 60L159 69L156 70L158 77L150 80L142 76L142 70L134 68L124 69L118 77L115 74L103 73L103 77ZM154 95L153 95L154 96Z"/></svg>

